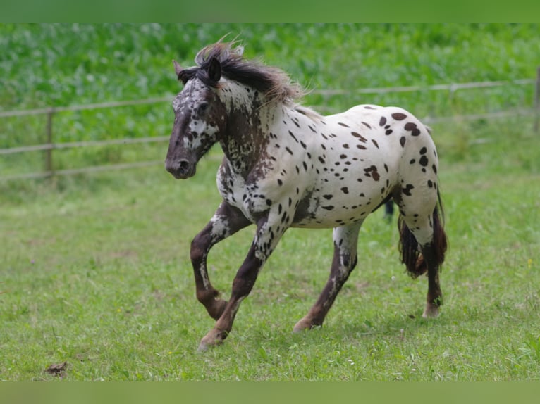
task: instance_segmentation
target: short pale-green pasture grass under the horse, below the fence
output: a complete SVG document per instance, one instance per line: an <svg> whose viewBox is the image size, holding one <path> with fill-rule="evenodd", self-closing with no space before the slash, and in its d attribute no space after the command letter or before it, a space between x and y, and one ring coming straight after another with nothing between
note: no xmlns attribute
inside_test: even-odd
<svg viewBox="0 0 540 404"><path fill-rule="evenodd" d="M434 129L450 142L451 131ZM331 231L292 229L226 343L204 354L197 345L213 320L195 299L188 257L219 203L219 151L184 182L149 168L8 195L0 378L55 379L45 369L67 361L66 380L538 379L540 141L527 132L511 144L501 132L460 161L442 154L450 250L437 320L421 318L427 282L404 273L395 224L377 212L324 327L292 333L326 282ZM226 296L252 232L211 252Z"/></svg>

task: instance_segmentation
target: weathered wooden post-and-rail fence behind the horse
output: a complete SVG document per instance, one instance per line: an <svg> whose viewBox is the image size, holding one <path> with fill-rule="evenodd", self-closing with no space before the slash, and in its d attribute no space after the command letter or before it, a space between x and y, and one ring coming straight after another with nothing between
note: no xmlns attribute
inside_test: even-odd
<svg viewBox="0 0 540 404"><path fill-rule="evenodd" d="M453 93L460 89L477 89L477 88L489 88L489 87L501 87L505 85L531 85L534 84L535 96L534 96L534 108L518 108L509 111L498 111L493 113L481 113L470 115L452 115L443 117L425 117L423 121L426 123L436 122L448 122L452 120L479 120L488 118L505 118L515 115L535 115L534 130L538 132L540 121L540 67L537 70L537 76L535 79L520 79L520 80L500 80L500 81L487 81L487 82L468 82L468 83L453 83L453 84L434 84L431 86L408 86L408 87L383 87L383 88L364 88L364 89L318 89L310 91L309 94L322 95L322 96L334 96L343 94L389 94L398 92L414 92L414 91L450 91ZM73 111L88 111L103 108L118 108L124 106L138 106L149 105L154 103L164 103L171 101L173 95L154 97L142 100L133 101L112 101L106 103L90 103L79 106L61 106L61 107L49 107L49 108L36 108L31 110L21 111L0 111L0 118L9 118L16 116L26 115L47 115L47 143L38 144L34 146L20 146L11 147L8 149L0 149L0 156L15 154L15 153L27 153L31 151L45 151L46 161L45 170L43 172L31 172L18 175L4 175L0 176L1 180L14 180L14 179L32 179L51 177L53 175L74 175L84 172L99 172L106 170L123 170L126 168L140 168L147 167L149 165L157 165L162 163L161 161L145 161L139 163L123 163L115 165L97 165L87 168L68 169L68 170L54 170L52 166L52 151L55 149L70 149L75 147L90 147L90 146L108 146L113 144L143 144L152 142L168 141L167 137L143 137L143 138L129 138L129 139L109 139L102 141L73 141L66 143L54 143L52 136L52 120L54 114L62 112Z"/></svg>

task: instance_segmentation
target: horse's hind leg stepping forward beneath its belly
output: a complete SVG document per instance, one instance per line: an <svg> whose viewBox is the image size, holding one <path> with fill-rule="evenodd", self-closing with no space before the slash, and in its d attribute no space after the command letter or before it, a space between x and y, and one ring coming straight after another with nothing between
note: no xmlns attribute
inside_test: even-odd
<svg viewBox="0 0 540 404"><path fill-rule="evenodd" d="M307 315L296 323L294 332L321 325L336 296L357 263L358 232L362 222L333 229L333 260L330 277L317 302Z"/></svg>

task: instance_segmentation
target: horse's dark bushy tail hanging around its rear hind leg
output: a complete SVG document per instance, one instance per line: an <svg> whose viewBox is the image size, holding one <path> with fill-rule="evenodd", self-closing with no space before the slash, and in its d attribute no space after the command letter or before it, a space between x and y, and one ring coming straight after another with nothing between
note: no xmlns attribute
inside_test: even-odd
<svg viewBox="0 0 540 404"><path fill-rule="evenodd" d="M435 206L433 211L433 251L434 251L434 264L440 267L444 262L444 255L446 253L446 247L448 241L446 239L446 233L444 232L444 212L443 205L441 203L441 195L438 194L438 205ZM439 217L439 210L441 210L441 217ZM399 217L398 228L400 231L400 253L401 262L405 264L407 272L412 278L417 278L420 275L427 272L427 264L424 261L424 257L420 252L418 241L412 232L409 230L403 217Z"/></svg>

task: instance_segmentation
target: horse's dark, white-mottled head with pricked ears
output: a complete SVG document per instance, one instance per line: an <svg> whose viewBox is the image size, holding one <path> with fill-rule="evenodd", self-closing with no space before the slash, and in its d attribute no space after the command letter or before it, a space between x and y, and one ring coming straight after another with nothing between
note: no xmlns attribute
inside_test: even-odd
<svg viewBox="0 0 540 404"><path fill-rule="evenodd" d="M174 125L165 167L177 179L195 175L197 162L219 141L226 122L220 101L221 63L213 58L204 68L183 69L173 61L184 88L173 101Z"/></svg>

